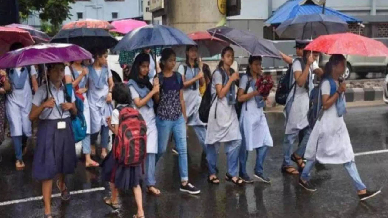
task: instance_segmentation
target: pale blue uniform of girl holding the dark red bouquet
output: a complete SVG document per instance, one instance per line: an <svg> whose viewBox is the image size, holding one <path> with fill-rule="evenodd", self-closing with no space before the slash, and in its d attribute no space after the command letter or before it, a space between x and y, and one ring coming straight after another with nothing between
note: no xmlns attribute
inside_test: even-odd
<svg viewBox="0 0 388 218"><path fill-rule="evenodd" d="M247 93L255 91L255 83L251 76L245 74L241 77L239 88L245 90L248 85ZM267 119L263 111L265 100L262 96L255 96L245 101L241 106L240 130L242 142L240 147L240 176L247 175L246 161L248 151L256 150L255 174L262 175L263 163L268 148L273 147L272 136L268 128Z"/></svg>

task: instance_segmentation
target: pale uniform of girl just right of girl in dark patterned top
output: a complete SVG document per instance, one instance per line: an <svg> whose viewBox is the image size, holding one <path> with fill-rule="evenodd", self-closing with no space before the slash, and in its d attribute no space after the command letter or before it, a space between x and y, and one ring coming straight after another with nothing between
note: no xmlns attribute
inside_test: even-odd
<svg viewBox="0 0 388 218"><path fill-rule="evenodd" d="M185 76L185 80L191 80L195 76L198 75L199 67L190 67L187 66L186 72L184 65L180 65L178 67L178 73ZM199 144L201 144L203 151L206 151L205 146L205 135L206 135L206 123L203 123L201 119L199 119L198 109L201 105L201 93L199 93L199 80L197 80L190 87L184 88L183 90L183 98L185 100L186 107L186 116L187 116L187 126L192 126L194 132L197 135Z"/></svg>

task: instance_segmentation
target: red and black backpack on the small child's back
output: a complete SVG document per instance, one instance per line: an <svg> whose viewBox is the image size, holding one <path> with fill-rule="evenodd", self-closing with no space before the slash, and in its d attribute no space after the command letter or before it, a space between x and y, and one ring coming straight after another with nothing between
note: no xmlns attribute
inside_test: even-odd
<svg viewBox="0 0 388 218"><path fill-rule="evenodd" d="M118 107L119 128L114 138L113 155L119 164L137 166L147 153L147 126L142 115L132 107Z"/></svg>

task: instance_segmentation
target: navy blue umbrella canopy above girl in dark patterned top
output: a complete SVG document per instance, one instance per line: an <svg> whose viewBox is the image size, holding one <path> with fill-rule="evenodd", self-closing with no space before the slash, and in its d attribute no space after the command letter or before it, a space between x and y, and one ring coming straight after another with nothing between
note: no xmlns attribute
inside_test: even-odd
<svg viewBox="0 0 388 218"><path fill-rule="evenodd" d="M185 33L171 26L150 24L130 31L114 47L118 50L134 50L174 45L196 45Z"/></svg>

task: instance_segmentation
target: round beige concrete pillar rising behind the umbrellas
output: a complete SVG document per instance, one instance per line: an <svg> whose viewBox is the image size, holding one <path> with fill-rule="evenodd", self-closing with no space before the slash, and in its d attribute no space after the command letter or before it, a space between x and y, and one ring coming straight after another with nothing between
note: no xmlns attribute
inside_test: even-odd
<svg viewBox="0 0 388 218"><path fill-rule="evenodd" d="M226 3L226 0L167 0L165 1L167 13L163 16L163 24L185 33L213 28L226 19L226 16L218 10L218 2Z"/></svg>

